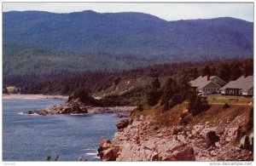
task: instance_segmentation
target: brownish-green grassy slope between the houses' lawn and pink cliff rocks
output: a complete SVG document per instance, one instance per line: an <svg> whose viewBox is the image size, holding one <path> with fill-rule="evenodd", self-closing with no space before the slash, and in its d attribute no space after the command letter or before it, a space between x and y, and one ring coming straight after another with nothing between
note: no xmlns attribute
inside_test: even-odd
<svg viewBox="0 0 256 166"><path fill-rule="evenodd" d="M236 106L232 105L228 109L224 109L223 105L211 105L211 108L207 112L202 112L201 114L192 117L191 114L187 112L187 104L183 103L177 106L174 106L172 109L167 112L160 113L161 107L145 107L143 112L134 111L131 115L131 118L137 118L141 115L144 116L154 116L154 121L151 122L152 125L156 126L177 126L180 125L181 115L186 116L183 119L186 119L189 123L187 127L193 127L198 123L209 123L212 126L224 126L227 121L232 121L235 117L242 115L246 118L247 113L250 112L253 106ZM243 124L245 125L245 124Z"/></svg>

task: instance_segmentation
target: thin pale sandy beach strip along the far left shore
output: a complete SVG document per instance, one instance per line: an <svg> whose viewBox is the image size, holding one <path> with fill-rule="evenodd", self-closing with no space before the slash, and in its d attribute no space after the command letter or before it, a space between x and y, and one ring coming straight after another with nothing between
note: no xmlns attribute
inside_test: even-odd
<svg viewBox="0 0 256 166"><path fill-rule="evenodd" d="M3 94L2 99L68 99L66 95L44 95L44 94Z"/></svg>

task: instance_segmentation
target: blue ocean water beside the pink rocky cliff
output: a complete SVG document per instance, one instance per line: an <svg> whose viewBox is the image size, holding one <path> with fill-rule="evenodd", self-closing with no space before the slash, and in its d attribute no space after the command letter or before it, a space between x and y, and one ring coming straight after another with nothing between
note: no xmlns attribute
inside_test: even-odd
<svg viewBox="0 0 256 166"><path fill-rule="evenodd" d="M109 114L86 116L22 115L34 109L58 105L65 100L3 100L3 161L46 161L59 156L60 161L96 157L98 140L112 139L119 118Z"/></svg>

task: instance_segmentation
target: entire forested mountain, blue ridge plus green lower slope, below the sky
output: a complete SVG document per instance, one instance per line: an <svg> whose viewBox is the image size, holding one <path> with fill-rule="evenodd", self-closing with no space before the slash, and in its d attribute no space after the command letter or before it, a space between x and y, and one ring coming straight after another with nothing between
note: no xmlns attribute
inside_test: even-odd
<svg viewBox="0 0 256 166"><path fill-rule="evenodd" d="M253 23L94 11L3 13L3 78L253 57Z"/></svg>

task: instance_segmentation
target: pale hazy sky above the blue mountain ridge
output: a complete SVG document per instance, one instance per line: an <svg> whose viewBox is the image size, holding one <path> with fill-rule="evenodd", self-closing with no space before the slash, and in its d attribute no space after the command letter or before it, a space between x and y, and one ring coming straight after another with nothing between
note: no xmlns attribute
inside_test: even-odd
<svg viewBox="0 0 256 166"><path fill-rule="evenodd" d="M3 3L3 11L40 10L71 13L83 10L99 13L142 12L164 20L234 17L253 22L253 3Z"/></svg>

